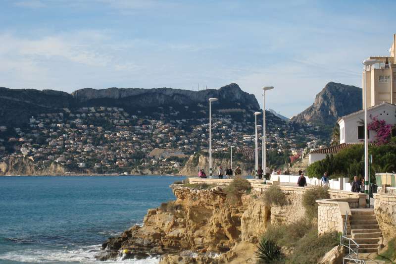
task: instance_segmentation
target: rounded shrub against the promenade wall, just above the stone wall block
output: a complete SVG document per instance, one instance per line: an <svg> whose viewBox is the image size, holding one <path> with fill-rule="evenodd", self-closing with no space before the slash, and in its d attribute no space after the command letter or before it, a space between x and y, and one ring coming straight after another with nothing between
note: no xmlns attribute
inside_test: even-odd
<svg viewBox="0 0 396 264"><path fill-rule="evenodd" d="M330 196L327 190L328 187L315 186L306 190L302 195L302 206L305 208L305 213L308 218L312 219L318 217L318 204L316 200L329 199Z"/></svg>

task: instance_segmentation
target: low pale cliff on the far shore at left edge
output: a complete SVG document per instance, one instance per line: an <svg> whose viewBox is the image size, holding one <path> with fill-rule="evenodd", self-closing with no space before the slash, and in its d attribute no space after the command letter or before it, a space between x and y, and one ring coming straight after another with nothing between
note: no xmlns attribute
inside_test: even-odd
<svg viewBox="0 0 396 264"><path fill-rule="evenodd" d="M40 168L29 158L10 157L0 162L0 175L65 175L65 172L65 168L58 163Z"/></svg>

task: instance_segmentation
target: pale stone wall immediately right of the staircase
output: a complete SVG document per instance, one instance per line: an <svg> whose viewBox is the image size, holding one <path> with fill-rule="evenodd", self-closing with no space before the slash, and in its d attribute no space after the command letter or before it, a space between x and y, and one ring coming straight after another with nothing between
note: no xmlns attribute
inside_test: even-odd
<svg viewBox="0 0 396 264"><path fill-rule="evenodd" d="M386 239L396 237L396 196L373 194L374 213Z"/></svg>

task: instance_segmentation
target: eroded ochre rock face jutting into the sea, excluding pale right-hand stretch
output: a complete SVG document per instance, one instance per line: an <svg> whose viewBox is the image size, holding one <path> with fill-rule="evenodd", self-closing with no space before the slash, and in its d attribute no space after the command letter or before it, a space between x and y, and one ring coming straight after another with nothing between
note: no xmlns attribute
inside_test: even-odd
<svg viewBox="0 0 396 264"><path fill-rule="evenodd" d="M220 254L230 251L241 240L256 242L265 230L262 223L268 217L265 206L250 195L242 195L237 205L225 206L226 194L221 187L193 190L175 185L173 191L177 199L170 209L168 206L148 210L143 227L133 226L121 236L109 238L102 245L104 254L98 259L114 259L115 254L124 250L130 258L178 255L183 251ZM175 261L175 258L166 260ZM187 258L190 257L182 260Z"/></svg>

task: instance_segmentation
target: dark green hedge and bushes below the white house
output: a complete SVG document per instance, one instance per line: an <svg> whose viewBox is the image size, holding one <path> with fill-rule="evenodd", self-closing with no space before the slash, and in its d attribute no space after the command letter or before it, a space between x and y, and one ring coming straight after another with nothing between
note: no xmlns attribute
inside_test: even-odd
<svg viewBox="0 0 396 264"><path fill-rule="evenodd" d="M375 182L375 172L386 172L395 168L396 164L396 137L392 137L389 144L369 146L369 154L373 155L371 167L371 181ZM325 159L310 164L307 168L309 177L320 178L327 171L330 177L338 175L349 176L364 175L364 146L357 144L342 150L336 155L327 156Z"/></svg>

